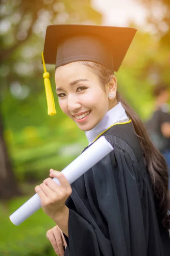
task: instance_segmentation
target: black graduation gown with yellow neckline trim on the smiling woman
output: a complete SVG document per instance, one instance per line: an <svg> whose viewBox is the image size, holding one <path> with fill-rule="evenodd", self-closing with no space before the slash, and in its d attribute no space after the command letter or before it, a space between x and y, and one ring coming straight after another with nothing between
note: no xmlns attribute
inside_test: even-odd
<svg viewBox="0 0 170 256"><path fill-rule="evenodd" d="M65 256L169 256L131 123L102 135L114 150L72 184Z"/></svg>

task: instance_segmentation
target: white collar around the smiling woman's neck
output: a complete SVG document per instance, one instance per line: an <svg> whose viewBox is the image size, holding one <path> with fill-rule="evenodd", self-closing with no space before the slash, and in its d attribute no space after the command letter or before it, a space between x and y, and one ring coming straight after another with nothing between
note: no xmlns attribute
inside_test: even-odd
<svg viewBox="0 0 170 256"><path fill-rule="evenodd" d="M123 108L121 102L111 108L103 117L103 119L90 131L85 131L89 145L96 139L96 137L103 131L107 130L111 125L120 122L128 122L129 118Z"/></svg>

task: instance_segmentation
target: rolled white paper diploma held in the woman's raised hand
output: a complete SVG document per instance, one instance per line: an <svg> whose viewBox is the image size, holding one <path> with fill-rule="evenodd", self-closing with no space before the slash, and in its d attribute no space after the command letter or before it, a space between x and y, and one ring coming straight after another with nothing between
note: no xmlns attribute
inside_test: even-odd
<svg viewBox="0 0 170 256"><path fill-rule="evenodd" d="M71 184L112 150L112 145L105 139L104 136L102 136L90 147L88 147L82 154L80 154L73 162L65 167L65 169L62 170L62 174L65 175L66 179ZM53 178L53 180L60 185L57 178ZM14 225L18 226L40 208L40 197L36 193L28 201L26 201L25 204L12 213L9 218Z"/></svg>

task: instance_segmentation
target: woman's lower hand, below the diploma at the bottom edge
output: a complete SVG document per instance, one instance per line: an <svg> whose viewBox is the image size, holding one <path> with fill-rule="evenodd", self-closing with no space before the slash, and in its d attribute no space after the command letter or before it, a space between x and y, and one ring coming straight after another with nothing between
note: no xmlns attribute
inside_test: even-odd
<svg viewBox="0 0 170 256"><path fill-rule="evenodd" d="M63 236L62 231L58 226L55 226L51 228L51 230L47 231L47 239L51 242L55 253L58 254L58 256L63 256L64 255L64 249L63 246L67 246L67 243L65 241L65 238Z"/></svg>

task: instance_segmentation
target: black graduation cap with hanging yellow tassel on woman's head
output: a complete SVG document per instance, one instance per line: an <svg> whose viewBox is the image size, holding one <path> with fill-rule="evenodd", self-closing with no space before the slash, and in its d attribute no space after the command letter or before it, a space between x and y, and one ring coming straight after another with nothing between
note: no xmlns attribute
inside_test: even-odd
<svg viewBox="0 0 170 256"><path fill-rule="evenodd" d="M42 63L48 114L55 105L46 64L59 67L74 61L93 61L118 71L137 29L95 25L49 25L46 29Z"/></svg>

